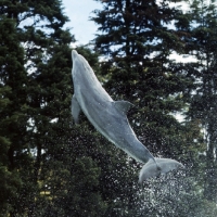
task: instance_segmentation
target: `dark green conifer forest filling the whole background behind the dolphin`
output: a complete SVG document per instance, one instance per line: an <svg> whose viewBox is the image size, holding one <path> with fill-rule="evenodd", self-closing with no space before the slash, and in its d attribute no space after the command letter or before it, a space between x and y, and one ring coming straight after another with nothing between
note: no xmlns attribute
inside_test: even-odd
<svg viewBox="0 0 217 217"><path fill-rule="evenodd" d="M217 2L101 2L93 47L77 51L114 100L135 104L130 124L153 155L186 170L139 187L139 163L85 116L74 125L62 1L0 0L0 216L217 216Z"/></svg>

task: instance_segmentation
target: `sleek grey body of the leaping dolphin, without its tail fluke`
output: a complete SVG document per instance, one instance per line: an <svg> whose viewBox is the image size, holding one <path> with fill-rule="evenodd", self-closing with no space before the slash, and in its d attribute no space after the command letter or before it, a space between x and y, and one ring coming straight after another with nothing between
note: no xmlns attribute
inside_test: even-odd
<svg viewBox="0 0 217 217"><path fill-rule="evenodd" d="M72 114L75 123L78 124L79 113L82 111L100 133L138 162L153 163L154 166L152 165L152 170L149 173L159 174L162 162L155 161L149 150L137 139L128 123L126 113L132 104L127 101L113 101L86 59L75 50L72 51L72 58L74 82ZM164 167L165 165L164 162Z"/></svg>

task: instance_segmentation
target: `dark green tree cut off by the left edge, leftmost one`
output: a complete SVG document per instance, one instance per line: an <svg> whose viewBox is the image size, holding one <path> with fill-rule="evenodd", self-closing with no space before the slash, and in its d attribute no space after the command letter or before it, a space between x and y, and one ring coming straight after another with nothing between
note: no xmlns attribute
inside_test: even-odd
<svg viewBox="0 0 217 217"><path fill-rule="evenodd" d="M17 169L28 162L23 137L26 117L22 112L27 77L15 22L1 15L0 28L0 213L5 216L13 210L11 196L16 197L22 186Z"/></svg>

